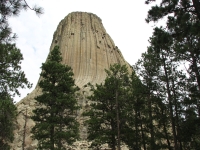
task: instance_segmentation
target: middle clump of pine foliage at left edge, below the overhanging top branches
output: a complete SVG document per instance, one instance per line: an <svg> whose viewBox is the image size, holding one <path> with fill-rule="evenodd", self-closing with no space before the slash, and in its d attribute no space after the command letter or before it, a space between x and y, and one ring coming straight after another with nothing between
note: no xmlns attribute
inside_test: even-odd
<svg viewBox="0 0 200 150"><path fill-rule="evenodd" d="M31 87L21 70L22 54L15 44L0 44L0 95L20 95L18 89Z"/></svg>

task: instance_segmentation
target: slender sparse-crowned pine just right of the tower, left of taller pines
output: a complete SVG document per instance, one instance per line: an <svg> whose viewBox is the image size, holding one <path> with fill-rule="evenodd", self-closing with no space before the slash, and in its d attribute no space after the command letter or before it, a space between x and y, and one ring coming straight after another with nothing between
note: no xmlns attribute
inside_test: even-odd
<svg viewBox="0 0 200 150"><path fill-rule="evenodd" d="M161 134L161 127L156 126L157 122L162 115L158 115L159 112L159 97L156 95L158 90L157 75L159 74L157 56L149 52L150 49L144 54L142 58L135 64L134 70L141 78L141 81L137 79L137 76L132 77L132 89L134 90L133 101L136 104L140 104L139 108L133 107L136 116L135 120L139 124L137 127L137 134L140 135L138 144L142 144L144 149L160 149L158 142L160 139L158 135ZM141 83L140 83L141 82ZM139 85L139 88L137 87ZM137 90L136 90L137 89ZM141 103L142 102L142 103ZM138 115L137 115L138 114Z"/></svg>

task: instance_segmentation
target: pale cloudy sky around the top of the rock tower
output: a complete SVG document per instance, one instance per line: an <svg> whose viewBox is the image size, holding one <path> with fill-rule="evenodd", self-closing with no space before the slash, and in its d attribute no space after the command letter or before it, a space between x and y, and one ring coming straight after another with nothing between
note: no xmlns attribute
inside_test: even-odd
<svg viewBox="0 0 200 150"><path fill-rule="evenodd" d="M20 89L18 102L33 91L45 62L58 23L69 13L90 12L101 18L107 33L121 50L125 60L134 65L149 45L155 24L147 24L145 18L151 8L145 0L27 0L30 7L35 4L44 9L39 17L31 10L22 11L9 19L12 31L17 34L17 47L24 60L22 70L33 83L31 89Z"/></svg>

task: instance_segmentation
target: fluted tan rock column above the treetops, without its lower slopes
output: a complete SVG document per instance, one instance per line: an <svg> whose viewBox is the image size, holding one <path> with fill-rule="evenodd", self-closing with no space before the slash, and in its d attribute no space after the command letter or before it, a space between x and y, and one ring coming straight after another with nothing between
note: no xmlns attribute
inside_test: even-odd
<svg viewBox="0 0 200 150"><path fill-rule="evenodd" d="M65 17L54 33L51 48L60 46L63 63L71 66L76 85L101 83L111 64L127 64L101 19L94 14L73 12ZM128 64L127 64L128 65Z"/></svg>

